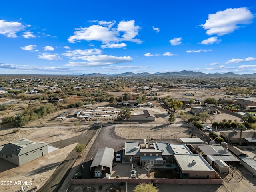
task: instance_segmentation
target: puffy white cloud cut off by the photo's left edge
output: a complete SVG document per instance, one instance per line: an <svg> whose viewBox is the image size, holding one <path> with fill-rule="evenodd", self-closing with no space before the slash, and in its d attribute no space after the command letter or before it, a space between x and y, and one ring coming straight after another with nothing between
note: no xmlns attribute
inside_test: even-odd
<svg viewBox="0 0 256 192"><path fill-rule="evenodd" d="M24 30L23 26L19 22L8 22L5 20L0 20L0 34L3 34L7 37L17 37L16 33Z"/></svg>

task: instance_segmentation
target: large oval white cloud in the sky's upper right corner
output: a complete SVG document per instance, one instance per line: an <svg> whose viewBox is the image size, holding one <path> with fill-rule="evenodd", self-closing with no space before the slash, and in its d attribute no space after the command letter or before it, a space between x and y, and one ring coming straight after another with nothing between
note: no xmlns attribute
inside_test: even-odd
<svg viewBox="0 0 256 192"><path fill-rule="evenodd" d="M215 14L209 14L208 20L202 24L208 35L222 36L234 32L241 25L250 24L253 14L245 7L226 9Z"/></svg>

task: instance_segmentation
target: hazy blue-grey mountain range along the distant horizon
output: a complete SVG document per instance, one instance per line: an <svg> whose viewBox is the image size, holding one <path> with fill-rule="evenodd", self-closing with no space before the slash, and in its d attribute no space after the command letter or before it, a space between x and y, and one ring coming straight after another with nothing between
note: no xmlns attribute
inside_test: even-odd
<svg viewBox="0 0 256 192"><path fill-rule="evenodd" d="M144 73L132 73L132 72L125 72L120 74L101 74L101 73L92 73L92 74L82 74L81 76L98 76L98 77L108 77L108 76L119 76L119 77L256 77L256 73L253 74L243 74L238 75L233 72L228 72L224 74L214 73L214 74L206 74L198 71L180 71L180 72L166 72L160 73L156 72L154 74L150 74L147 72Z"/></svg>

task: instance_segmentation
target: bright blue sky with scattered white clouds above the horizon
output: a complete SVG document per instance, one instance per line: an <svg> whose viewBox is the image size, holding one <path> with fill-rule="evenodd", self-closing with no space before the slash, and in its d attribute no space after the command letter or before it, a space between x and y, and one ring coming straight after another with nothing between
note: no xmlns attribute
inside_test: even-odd
<svg viewBox="0 0 256 192"><path fill-rule="evenodd" d="M256 72L252 0L0 2L0 74Z"/></svg>

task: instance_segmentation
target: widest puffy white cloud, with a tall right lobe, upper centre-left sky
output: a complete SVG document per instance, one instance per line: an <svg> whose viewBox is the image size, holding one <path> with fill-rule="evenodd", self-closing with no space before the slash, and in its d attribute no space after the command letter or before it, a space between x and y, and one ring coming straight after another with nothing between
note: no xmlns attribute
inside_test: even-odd
<svg viewBox="0 0 256 192"><path fill-rule="evenodd" d="M113 28L112 24L114 22L98 22L103 25L92 25L84 28L76 28L74 31L74 35L68 38L69 42L80 42L81 40L86 41L101 41L103 43L110 42L120 42L120 41L131 41L136 43L141 43L142 41L139 39L135 39L134 37L138 35L138 31L140 30L140 26L135 26L135 21L121 21L118 23L117 28ZM107 25L107 26L106 26ZM122 36L120 37L120 32L122 32Z"/></svg>

